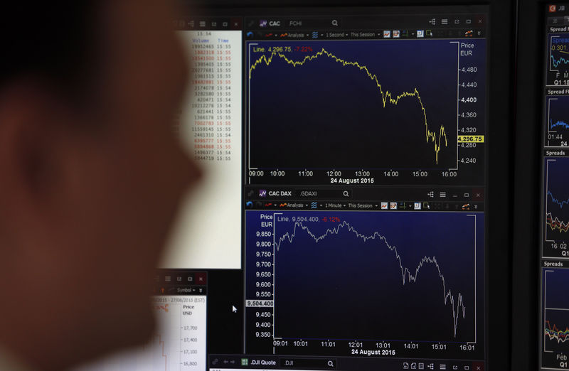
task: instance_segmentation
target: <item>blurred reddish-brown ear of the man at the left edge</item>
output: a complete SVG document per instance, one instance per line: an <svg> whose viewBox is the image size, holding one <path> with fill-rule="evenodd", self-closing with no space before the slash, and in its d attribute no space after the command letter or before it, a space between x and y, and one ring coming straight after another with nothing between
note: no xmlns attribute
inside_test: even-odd
<svg viewBox="0 0 569 371"><path fill-rule="evenodd" d="M0 92L0 203L11 216L46 215L62 179L63 100L31 81ZM6 215L2 215L6 217Z"/></svg>

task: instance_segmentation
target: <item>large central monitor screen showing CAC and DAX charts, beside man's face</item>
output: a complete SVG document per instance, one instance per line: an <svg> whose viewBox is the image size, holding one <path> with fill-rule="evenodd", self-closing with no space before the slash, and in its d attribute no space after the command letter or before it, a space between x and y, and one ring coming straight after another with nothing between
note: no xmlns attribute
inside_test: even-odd
<svg viewBox="0 0 569 371"><path fill-rule="evenodd" d="M97 370L484 370L488 6L188 14L206 178Z"/></svg>

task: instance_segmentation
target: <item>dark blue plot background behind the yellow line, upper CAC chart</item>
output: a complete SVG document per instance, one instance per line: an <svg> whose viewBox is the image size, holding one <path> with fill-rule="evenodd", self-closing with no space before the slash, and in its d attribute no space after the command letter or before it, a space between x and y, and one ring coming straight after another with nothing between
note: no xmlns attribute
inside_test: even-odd
<svg viewBox="0 0 569 371"><path fill-rule="evenodd" d="M462 40L464 41L464 40ZM310 46L313 52L284 53L302 60L322 48L366 65L383 91L418 88L429 129L446 129L435 163L432 142L416 97L383 108L376 82L366 72L322 55L292 67L275 56L257 65L250 79L250 166L258 168L452 168L456 166L457 45L450 40L255 41L259 47ZM468 65L484 76L485 41L474 43ZM252 53L251 63L265 53ZM250 57L249 57L250 55ZM466 60L466 59L464 59ZM474 75L471 75L474 80ZM484 78L478 78L483 89ZM479 97L480 99L480 97ZM480 112L482 114L483 112Z"/></svg>

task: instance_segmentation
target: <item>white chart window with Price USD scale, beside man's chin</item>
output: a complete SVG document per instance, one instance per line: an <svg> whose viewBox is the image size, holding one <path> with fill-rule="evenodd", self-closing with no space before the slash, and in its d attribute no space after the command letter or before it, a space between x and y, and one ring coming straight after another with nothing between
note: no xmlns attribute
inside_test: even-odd
<svg viewBox="0 0 569 371"><path fill-rule="evenodd" d="M203 271L156 272L150 300L156 328L148 343L75 371L206 370L206 277ZM120 339L116 342L125 343Z"/></svg>

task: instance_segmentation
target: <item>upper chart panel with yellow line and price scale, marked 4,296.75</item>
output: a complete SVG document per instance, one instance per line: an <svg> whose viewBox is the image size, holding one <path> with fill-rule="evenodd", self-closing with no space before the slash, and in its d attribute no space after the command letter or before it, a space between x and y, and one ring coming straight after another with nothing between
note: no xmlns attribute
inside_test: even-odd
<svg viewBox="0 0 569 371"><path fill-rule="evenodd" d="M329 184L336 171L476 181L485 48L484 38L248 41L249 183Z"/></svg>

